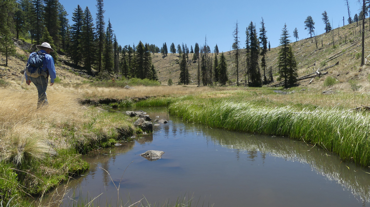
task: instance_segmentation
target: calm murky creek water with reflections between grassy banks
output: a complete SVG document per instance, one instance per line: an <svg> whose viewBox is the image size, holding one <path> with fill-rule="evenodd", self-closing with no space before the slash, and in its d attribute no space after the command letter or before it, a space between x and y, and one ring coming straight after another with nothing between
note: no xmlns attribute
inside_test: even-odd
<svg viewBox="0 0 370 207"><path fill-rule="evenodd" d="M186 123L165 108L139 109L169 122L154 126L152 134L84 156L90 169L55 191L70 189L65 206L101 193L94 203L115 206L119 183L123 203L145 196L162 206L189 196L192 206L370 206L370 170L322 148ZM139 156L147 150L165 154L149 161Z"/></svg>

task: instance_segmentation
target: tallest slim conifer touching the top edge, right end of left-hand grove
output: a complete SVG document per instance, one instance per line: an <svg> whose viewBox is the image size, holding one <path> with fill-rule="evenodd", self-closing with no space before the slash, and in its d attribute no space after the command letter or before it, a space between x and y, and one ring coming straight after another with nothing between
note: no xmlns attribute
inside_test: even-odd
<svg viewBox="0 0 370 207"><path fill-rule="evenodd" d="M104 10L103 10L103 0L97 0L97 13L96 13L96 36L97 36L97 41L98 41L98 72L101 71L103 68L102 66L102 56L104 52L104 28L105 28L105 22L104 22Z"/></svg>

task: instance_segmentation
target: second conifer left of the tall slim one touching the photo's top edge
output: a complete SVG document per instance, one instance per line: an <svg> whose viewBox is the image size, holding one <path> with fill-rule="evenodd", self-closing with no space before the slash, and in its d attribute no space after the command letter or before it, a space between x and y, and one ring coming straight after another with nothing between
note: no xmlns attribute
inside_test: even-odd
<svg viewBox="0 0 370 207"><path fill-rule="evenodd" d="M82 62L82 48L81 48L81 39L82 39L82 26L84 20L84 12L80 5L77 5L77 8L74 9L72 13L72 21L75 23L71 26L71 46L69 56L73 64L78 65Z"/></svg>

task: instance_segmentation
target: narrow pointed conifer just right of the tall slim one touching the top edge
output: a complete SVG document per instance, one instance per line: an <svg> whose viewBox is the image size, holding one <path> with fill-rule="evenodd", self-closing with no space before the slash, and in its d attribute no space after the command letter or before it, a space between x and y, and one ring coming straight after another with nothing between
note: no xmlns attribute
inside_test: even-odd
<svg viewBox="0 0 370 207"><path fill-rule="evenodd" d="M104 70L111 72L113 68L113 29L111 21L108 19L107 30L105 31Z"/></svg>

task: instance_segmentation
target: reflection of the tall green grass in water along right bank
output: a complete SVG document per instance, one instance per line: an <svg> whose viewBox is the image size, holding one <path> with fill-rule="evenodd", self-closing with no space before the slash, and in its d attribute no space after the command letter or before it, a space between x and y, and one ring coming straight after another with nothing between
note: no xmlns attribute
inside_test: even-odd
<svg viewBox="0 0 370 207"><path fill-rule="evenodd" d="M370 202L370 170L356 166L352 162L343 162L337 155L322 148L287 138L243 133L235 136L235 132L232 131L210 128L204 128L202 131L203 136L223 147L245 150L252 161L259 151L263 160L266 154L270 154L289 161L309 164L314 171L326 176L328 180L335 180L343 188L350 189L352 194L364 203Z"/></svg>

